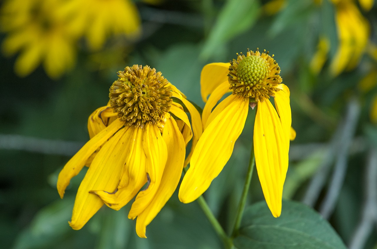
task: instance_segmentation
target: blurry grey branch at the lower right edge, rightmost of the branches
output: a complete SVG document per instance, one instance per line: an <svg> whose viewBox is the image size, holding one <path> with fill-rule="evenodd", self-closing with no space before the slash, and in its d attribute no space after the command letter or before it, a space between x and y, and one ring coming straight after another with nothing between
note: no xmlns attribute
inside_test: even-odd
<svg viewBox="0 0 377 249"><path fill-rule="evenodd" d="M362 249L377 225L377 149L369 153L365 171L365 203L362 217L349 243L349 249Z"/></svg>

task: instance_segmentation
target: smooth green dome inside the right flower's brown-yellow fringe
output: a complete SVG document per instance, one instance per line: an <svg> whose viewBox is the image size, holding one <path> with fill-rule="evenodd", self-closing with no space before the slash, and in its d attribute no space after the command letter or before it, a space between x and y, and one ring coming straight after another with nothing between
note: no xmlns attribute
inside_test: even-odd
<svg viewBox="0 0 377 249"><path fill-rule="evenodd" d="M236 75L245 85L260 84L268 75L269 69L265 59L251 55L239 62Z"/></svg>

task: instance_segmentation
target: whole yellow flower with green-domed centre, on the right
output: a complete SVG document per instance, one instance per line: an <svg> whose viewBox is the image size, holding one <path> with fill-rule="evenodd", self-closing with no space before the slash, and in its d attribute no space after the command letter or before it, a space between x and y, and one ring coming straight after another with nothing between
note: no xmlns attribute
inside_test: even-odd
<svg viewBox="0 0 377 249"><path fill-rule="evenodd" d="M202 114L204 132L195 147L190 168L179 189L179 199L189 203L198 198L219 175L242 132L249 105L257 105L254 123L254 154L259 180L268 207L280 216L282 191L288 169L291 134L290 91L281 84L280 67L257 49L246 56L237 54L230 63L206 65L201 73L205 102ZM221 97L233 94L212 108ZM207 95L211 94L208 101ZM273 97L276 110L270 102ZM294 131L292 131L294 132Z"/></svg>

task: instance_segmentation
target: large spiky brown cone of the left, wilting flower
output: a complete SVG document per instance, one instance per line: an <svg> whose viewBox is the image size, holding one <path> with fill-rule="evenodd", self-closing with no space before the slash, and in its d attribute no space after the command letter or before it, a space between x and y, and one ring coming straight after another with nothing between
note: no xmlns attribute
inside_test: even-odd
<svg viewBox="0 0 377 249"><path fill-rule="evenodd" d="M172 89L167 79L155 68L133 65L118 71L118 79L110 87L110 106L128 126L143 128L157 124L172 103Z"/></svg>

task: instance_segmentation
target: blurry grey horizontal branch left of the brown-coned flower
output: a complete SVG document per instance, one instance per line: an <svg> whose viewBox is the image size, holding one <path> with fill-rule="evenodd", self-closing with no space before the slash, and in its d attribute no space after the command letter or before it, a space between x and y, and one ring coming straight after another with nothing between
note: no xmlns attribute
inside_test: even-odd
<svg viewBox="0 0 377 249"><path fill-rule="evenodd" d="M72 156L84 143L0 134L0 149Z"/></svg>

